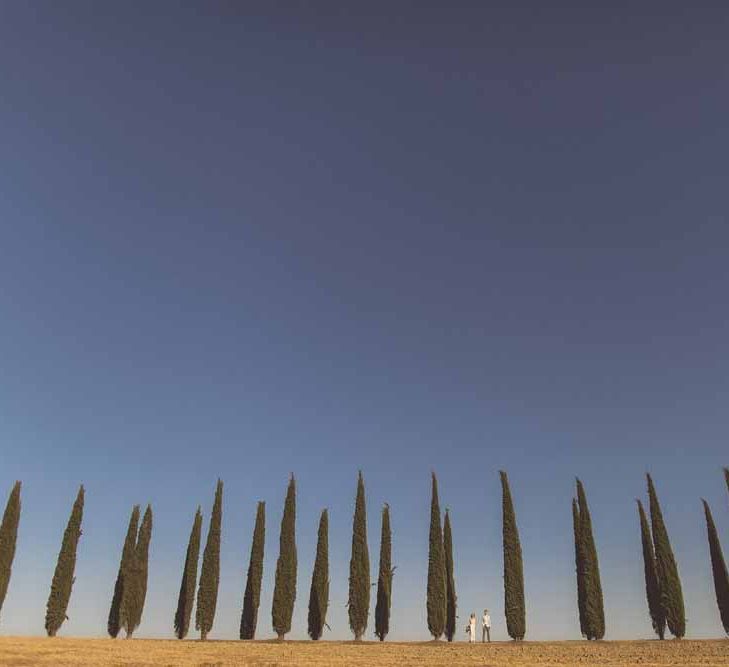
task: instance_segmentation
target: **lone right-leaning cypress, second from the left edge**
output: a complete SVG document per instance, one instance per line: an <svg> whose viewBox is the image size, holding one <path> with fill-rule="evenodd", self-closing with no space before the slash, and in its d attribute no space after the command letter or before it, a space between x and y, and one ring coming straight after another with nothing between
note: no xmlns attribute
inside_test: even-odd
<svg viewBox="0 0 729 667"><path fill-rule="evenodd" d="M84 487L78 490L76 501L73 503L71 516L68 518L66 530L63 533L61 550L58 552L56 570L51 582L51 593L46 604L46 632L54 637L66 620L68 601L71 599L71 588L76 578L73 576L76 569L76 547L81 537L81 521L84 515Z"/></svg>

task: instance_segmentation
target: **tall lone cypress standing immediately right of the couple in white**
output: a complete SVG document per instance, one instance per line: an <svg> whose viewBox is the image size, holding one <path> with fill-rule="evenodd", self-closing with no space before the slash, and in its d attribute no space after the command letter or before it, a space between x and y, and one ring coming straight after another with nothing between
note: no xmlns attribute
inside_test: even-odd
<svg viewBox="0 0 729 667"><path fill-rule="evenodd" d="M526 634L526 610L524 607L524 565L521 558L521 542L516 525L514 504L511 500L509 479L502 470L502 519L504 548L504 612L506 614L506 631L516 641L524 639Z"/></svg>

